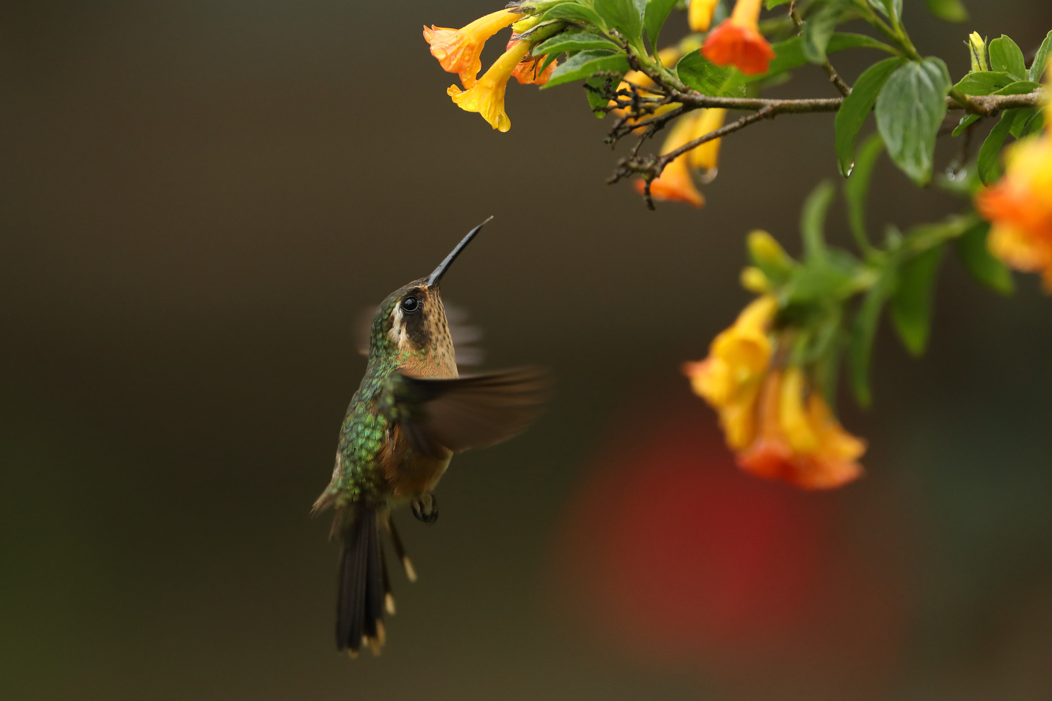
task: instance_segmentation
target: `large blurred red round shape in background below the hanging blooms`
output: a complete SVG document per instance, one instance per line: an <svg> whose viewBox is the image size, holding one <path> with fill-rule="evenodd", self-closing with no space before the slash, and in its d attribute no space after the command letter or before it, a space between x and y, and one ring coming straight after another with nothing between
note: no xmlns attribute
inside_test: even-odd
<svg viewBox="0 0 1052 701"><path fill-rule="evenodd" d="M649 420L611 431L568 504L552 596L604 644L660 665L841 690L885 677L907 615L901 530L871 524L874 542L844 514L901 511L742 473L704 408Z"/></svg>

